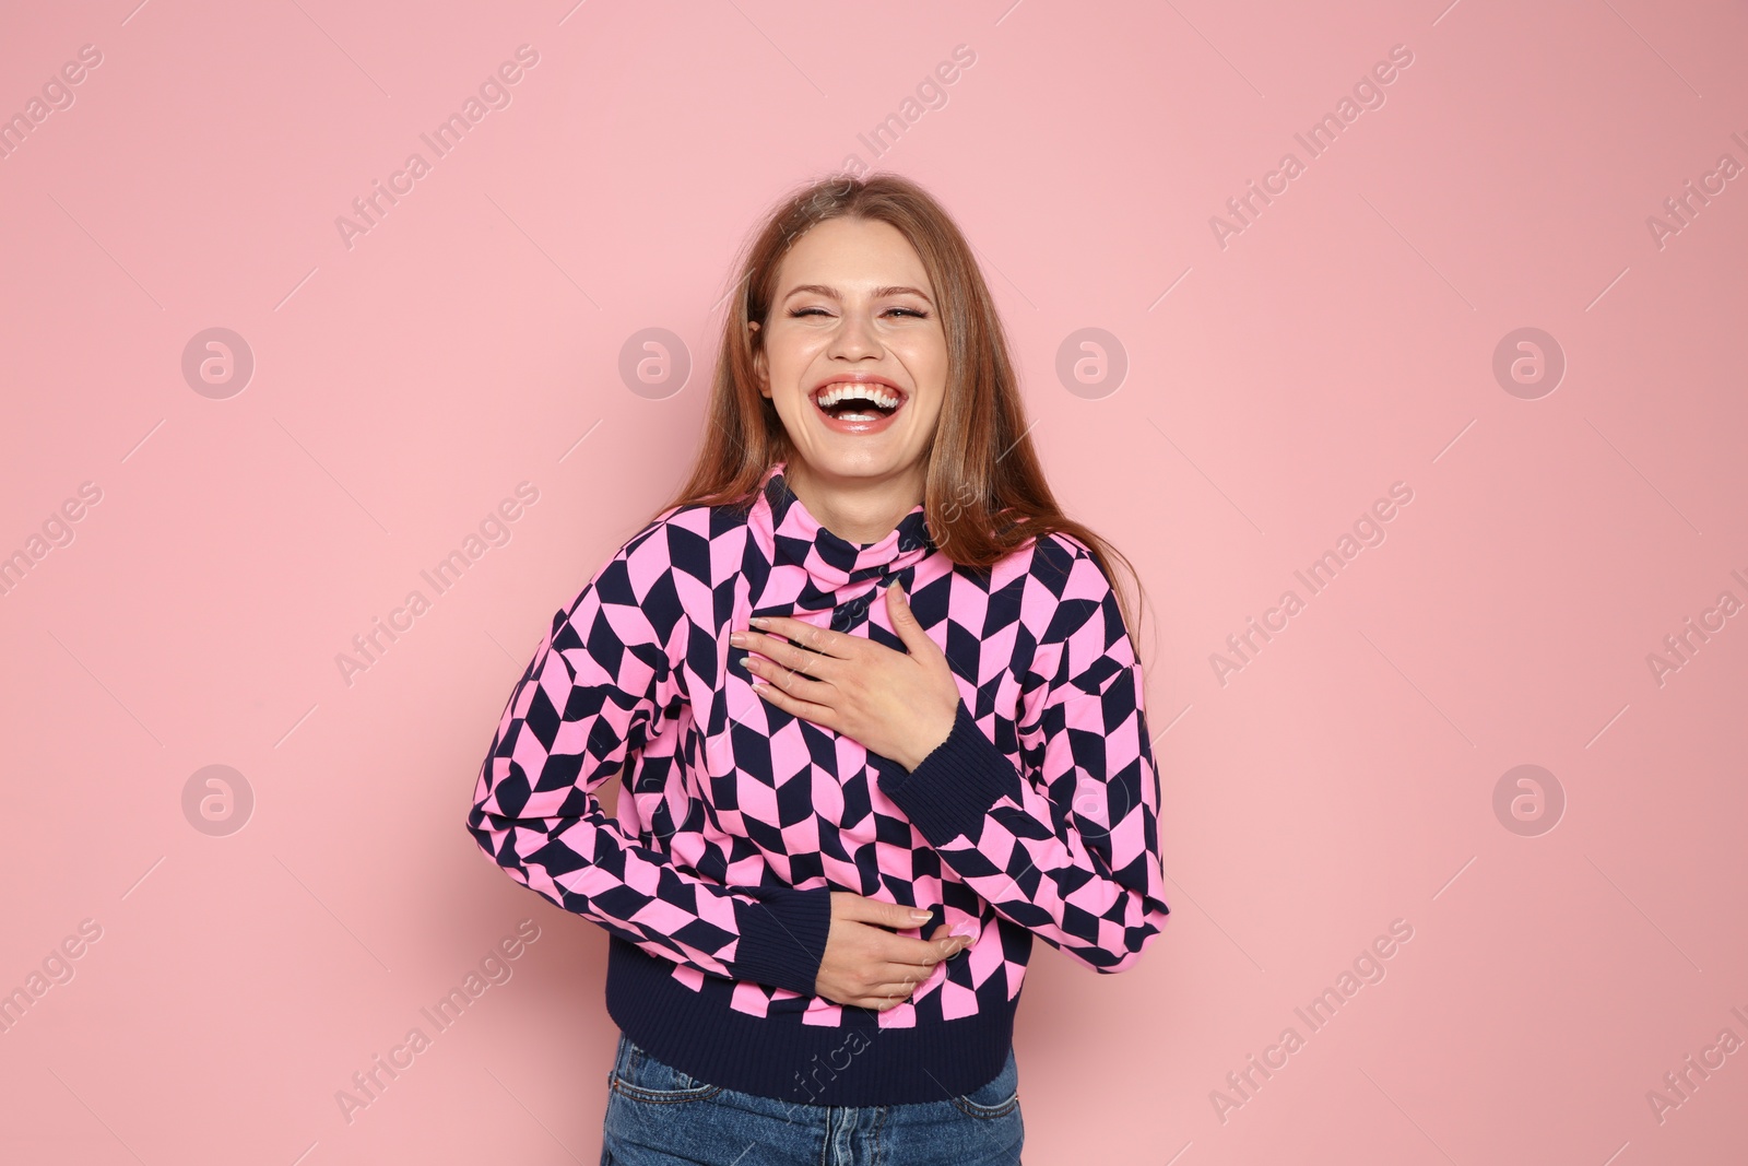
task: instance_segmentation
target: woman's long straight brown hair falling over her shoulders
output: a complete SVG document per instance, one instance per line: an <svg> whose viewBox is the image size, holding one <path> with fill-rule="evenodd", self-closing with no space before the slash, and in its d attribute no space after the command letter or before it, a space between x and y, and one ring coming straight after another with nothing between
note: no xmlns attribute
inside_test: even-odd
<svg viewBox="0 0 1748 1166"><path fill-rule="evenodd" d="M829 219L897 227L928 271L947 336L947 393L928 460L930 540L960 566L988 568L1044 533L1079 538L1112 580L1131 642L1138 621L1110 570L1120 559L1145 601L1134 565L1091 528L1063 514L1028 435L1019 379L982 271L958 224L923 187L893 173L834 175L778 201L748 238L722 322L706 441L692 475L657 514L678 505L752 505L759 479L794 446L776 406L759 392L753 351L762 344L778 266L808 229ZM748 327L759 322L759 330Z"/></svg>

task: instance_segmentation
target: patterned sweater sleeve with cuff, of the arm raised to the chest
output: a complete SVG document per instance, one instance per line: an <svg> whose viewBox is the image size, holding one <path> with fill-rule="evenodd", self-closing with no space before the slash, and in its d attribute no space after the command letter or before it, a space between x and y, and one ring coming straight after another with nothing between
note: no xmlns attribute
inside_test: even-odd
<svg viewBox="0 0 1748 1166"><path fill-rule="evenodd" d="M909 773L881 759L876 781L1000 916L1079 963L1122 972L1169 913L1159 771L1117 594L1089 552L1059 559L1066 580L1052 580L1061 593L1033 661L1042 698L1023 698L1017 725L1024 771L961 699L946 741Z"/></svg>

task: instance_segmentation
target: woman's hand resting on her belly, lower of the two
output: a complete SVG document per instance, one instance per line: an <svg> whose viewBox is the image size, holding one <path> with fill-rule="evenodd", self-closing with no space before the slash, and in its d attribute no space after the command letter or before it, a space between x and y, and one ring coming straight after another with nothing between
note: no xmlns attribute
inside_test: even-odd
<svg viewBox="0 0 1748 1166"><path fill-rule="evenodd" d="M914 907L832 892L832 930L813 981L813 993L834 1003L886 1009L904 1003L935 965L970 946L942 923L928 939L905 939L884 930L918 927Z"/></svg>

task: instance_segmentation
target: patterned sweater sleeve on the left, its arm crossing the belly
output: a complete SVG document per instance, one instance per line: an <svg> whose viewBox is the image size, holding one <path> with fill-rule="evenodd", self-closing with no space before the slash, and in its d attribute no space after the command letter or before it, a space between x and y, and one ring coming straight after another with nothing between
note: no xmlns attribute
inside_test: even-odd
<svg viewBox="0 0 1748 1166"><path fill-rule="evenodd" d="M640 762L671 764L671 739L668 759L643 757L685 701L675 661L690 628L669 542L657 519L554 615L503 708L467 829L512 879L650 954L811 996L829 888L699 878L649 832L628 837L594 795L621 773L629 795Z"/></svg>

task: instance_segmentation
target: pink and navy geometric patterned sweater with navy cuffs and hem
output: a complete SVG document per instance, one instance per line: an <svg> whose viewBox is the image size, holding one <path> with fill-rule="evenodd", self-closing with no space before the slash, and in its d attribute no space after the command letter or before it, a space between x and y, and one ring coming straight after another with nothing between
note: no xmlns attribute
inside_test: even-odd
<svg viewBox="0 0 1748 1166"><path fill-rule="evenodd" d="M750 689L729 633L790 615L905 650L898 579L960 687L914 771ZM617 776L617 818L596 790ZM783 463L750 507L673 507L584 586L510 692L467 827L517 883L608 935L607 1009L685 1073L809 1105L975 1091L1002 1070L1033 935L1096 972L1159 933L1159 774L1110 580L1070 535L988 572L921 503L853 544ZM813 993L830 893L970 923L888 1010Z"/></svg>

